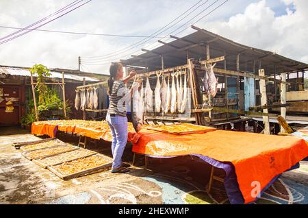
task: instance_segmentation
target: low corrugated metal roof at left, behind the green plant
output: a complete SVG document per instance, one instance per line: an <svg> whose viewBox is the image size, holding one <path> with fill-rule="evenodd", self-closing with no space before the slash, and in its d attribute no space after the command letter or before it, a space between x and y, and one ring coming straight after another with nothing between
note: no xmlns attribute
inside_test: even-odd
<svg viewBox="0 0 308 218"><path fill-rule="evenodd" d="M14 68L14 67L1 67L0 66L0 74L7 74L7 75L21 75L21 76L30 76L30 71L28 69L21 69L21 68ZM57 73L50 71L51 78L62 78L62 73ZM77 80L77 81L83 81L83 79L86 78L86 81L99 81L92 77L86 77L86 76L78 76L78 75L71 75L71 74L65 74L64 73L64 79L68 80Z"/></svg>

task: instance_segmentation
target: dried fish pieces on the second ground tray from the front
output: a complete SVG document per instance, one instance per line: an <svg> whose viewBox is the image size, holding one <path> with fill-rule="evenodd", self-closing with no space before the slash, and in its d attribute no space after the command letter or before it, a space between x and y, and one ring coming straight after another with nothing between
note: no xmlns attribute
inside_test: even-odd
<svg viewBox="0 0 308 218"><path fill-rule="evenodd" d="M97 154L97 152L93 152L87 149L78 149L72 152L65 152L62 154L57 154L56 156L50 156L47 158L39 158L37 160L34 160L34 162L37 165L40 165L41 167L48 167L52 165L59 165L60 163L67 162L70 160L85 158L93 154Z"/></svg>

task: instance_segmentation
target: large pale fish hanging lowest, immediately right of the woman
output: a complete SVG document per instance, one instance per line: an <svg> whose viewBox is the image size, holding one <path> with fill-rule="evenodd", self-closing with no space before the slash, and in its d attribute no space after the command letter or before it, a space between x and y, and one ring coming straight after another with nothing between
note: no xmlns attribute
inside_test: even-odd
<svg viewBox="0 0 308 218"><path fill-rule="evenodd" d="M140 83L133 82L133 96L131 97L131 122L136 132L139 132L143 124L143 105L142 99L139 93Z"/></svg>

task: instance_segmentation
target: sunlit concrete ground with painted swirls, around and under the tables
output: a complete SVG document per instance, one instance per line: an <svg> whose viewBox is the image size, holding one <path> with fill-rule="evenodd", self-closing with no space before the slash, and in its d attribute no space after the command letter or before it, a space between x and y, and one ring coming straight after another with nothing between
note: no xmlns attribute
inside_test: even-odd
<svg viewBox="0 0 308 218"><path fill-rule="evenodd" d="M78 141L68 134L57 138L73 145ZM197 158L150 158L145 171L140 157L140 167L129 173L101 171L64 181L11 146L38 139L18 128L0 128L0 204L229 204L222 183L214 182L211 193L205 192L210 168ZM88 149L111 157L110 143ZM123 160L132 160L129 144ZM283 173L256 204L308 204L308 162L300 165Z"/></svg>

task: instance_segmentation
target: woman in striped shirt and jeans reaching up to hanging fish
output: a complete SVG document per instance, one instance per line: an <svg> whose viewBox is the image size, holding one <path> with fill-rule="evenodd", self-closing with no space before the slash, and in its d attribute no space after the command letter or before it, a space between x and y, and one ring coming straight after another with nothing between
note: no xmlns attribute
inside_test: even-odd
<svg viewBox="0 0 308 218"><path fill-rule="evenodd" d="M120 63L112 63L110 66L110 78L108 80L109 108L107 110L107 123L112 132L112 173L126 173L129 171L122 162L122 155L127 143L127 116L125 104L131 95L125 84L136 75L131 71L129 76L123 78L123 66Z"/></svg>

